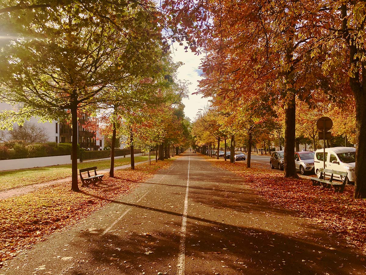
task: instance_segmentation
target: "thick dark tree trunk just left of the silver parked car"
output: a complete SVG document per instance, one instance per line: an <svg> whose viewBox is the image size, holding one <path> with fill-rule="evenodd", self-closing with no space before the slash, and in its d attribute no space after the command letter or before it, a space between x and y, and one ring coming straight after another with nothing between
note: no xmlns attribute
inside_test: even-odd
<svg viewBox="0 0 366 275"><path fill-rule="evenodd" d="M285 177L298 179L295 167L295 124L296 103L295 97L285 109L285 148L284 148L284 174Z"/></svg>

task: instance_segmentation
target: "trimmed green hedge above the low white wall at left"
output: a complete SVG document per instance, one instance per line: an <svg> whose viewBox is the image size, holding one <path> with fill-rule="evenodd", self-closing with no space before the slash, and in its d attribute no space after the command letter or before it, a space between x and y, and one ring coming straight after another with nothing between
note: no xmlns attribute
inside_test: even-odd
<svg viewBox="0 0 366 275"><path fill-rule="evenodd" d="M0 160L70 155L71 143L24 143L12 140L0 144Z"/></svg>

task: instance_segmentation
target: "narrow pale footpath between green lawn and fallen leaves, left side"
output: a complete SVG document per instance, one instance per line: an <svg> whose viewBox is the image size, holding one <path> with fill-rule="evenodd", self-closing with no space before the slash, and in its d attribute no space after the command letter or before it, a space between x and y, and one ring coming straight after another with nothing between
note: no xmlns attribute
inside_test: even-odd
<svg viewBox="0 0 366 275"><path fill-rule="evenodd" d="M142 163L148 162L147 161L140 161L140 162L135 162L135 165L139 165ZM119 170L119 169L126 169L126 168L130 168L131 164L126 164L126 165L122 165L122 166L116 166L115 170ZM108 169L103 169L103 170L98 170L98 173L107 173L109 172L109 168ZM5 191L1 191L0 192L0 199L7 199L7 198L11 198L11 197L15 197L15 196L20 196L23 194L27 194L29 192L33 192L39 188L42 187L46 187L46 186L50 186L50 185L54 185L54 184L59 184L59 183L65 183L67 181L71 180L71 176L70 177L64 177L63 179L59 179L59 180L51 180L51 181L47 181L47 182L43 182L43 183L36 183L36 184L32 184L32 185L28 185L28 186L23 186L23 187L19 187L19 188L14 188L14 189L9 189L9 190L5 190Z"/></svg>

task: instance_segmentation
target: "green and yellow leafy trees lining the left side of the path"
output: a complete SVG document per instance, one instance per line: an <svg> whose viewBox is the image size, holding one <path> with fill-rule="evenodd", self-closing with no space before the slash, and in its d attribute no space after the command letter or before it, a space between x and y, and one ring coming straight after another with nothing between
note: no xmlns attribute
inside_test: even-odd
<svg viewBox="0 0 366 275"><path fill-rule="evenodd" d="M0 101L14 106L1 111L2 129L35 115L67 120L77 137L78 116L103 110L101 125L112 143L121 125L132 150L138 142L143 147L183 142L162 125L170 119L182 134L184 116L175 112L182 109L186 90L175 79L179 64L169 58L154 3L11 3L0 4ZM73 138L74 191L79 191L77 143ZM111 176L112 166L113 153Z"/></svg>

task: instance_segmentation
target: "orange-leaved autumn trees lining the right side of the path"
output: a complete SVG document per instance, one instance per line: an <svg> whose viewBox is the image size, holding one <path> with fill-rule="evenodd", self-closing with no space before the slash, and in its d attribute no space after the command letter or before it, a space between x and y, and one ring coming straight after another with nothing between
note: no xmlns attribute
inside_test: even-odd
<svg viewBox="0 0 366 275"><path fill-rule="evenodd" d="M254 124L283 110L285 177L297 177L293 156L300 102L309 109L331 103L349 114L354 109L354 196L366 197L363 1L171 0L162 8L172 22L179 21L187 47L205 51L199 92L213 96L213 106L228 117L243 108Z"/></svg>

